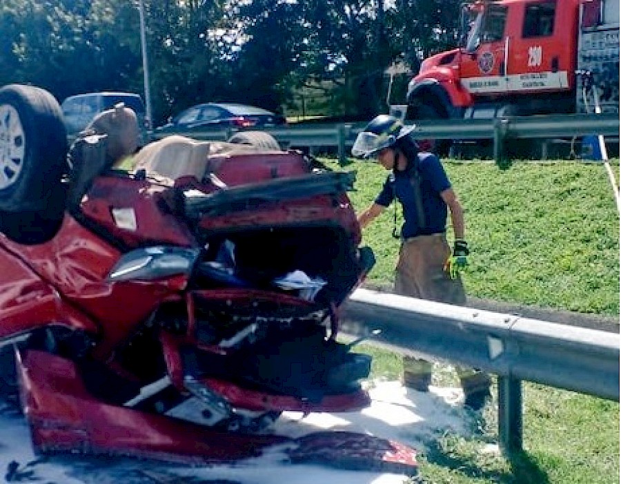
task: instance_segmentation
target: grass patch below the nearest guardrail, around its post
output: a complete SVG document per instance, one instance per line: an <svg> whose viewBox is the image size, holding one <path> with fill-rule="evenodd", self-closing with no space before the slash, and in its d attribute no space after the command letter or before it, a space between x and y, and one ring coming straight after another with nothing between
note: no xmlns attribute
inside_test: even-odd
<svg viewBox="0 0 621 484"><path fill-rule="evenodd" d="M362 344L373 356L371 380L397 380L400 356ZM444 368L442 368L444 370ZM448 368L446 369L448 370ZM434 374L434 378L438 378ZM442 371L446 385L458 385ZM444 384L443 383L443 384ZM480 432L471 438L438 438L420 458L425 483L434 484L615 484L619 482L619 404L602 398L523 383L524 452L510 457L486 452L497 444L497 394L484 409Z"/></svg>

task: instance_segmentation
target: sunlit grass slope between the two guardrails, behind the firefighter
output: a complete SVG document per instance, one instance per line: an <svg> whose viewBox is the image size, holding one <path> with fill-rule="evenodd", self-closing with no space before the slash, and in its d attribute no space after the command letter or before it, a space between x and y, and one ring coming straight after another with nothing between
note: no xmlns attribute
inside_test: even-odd
<svg viewBox="0 0 621 484"><path fill-rule="evenodd" d="M471 255L462 277L469 295L618 316L619 216L601 164L444 166L465 211ZM386 172L363 161L347 169L357 171L351 199L361 211L379 193ZM371 282L393 280L399 243L392 226L393 207L364 230L377 257ZM450 228L447 234L451 239Z"/></svg>

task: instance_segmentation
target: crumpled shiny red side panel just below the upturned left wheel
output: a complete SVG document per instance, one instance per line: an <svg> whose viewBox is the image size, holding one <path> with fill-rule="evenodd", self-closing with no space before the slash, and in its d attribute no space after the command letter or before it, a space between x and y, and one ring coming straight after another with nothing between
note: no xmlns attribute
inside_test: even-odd
<svg viewBox="0 0 621 484"><path fill-rule="evenodd" d="M161 302L181 300L179 291L187 283L181 276L107 281L120 251L69 215L44 244L26 246L0 236L0 253L0 338L50 322L103 331L95 349L99 358L106 358Z"/></svg>

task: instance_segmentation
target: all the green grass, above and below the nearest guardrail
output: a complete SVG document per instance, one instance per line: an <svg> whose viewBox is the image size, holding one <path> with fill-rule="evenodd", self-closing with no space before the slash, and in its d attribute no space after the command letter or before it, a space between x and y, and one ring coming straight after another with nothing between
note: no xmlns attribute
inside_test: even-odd
<svg viewBox="0 0 621 484"><path fill-rule="evenodd" d="M384 181L381 166L351 161L357 171L355 209L370 204ZM619 315L619 215L601 164L444 162L465 209L471 296L605 316ZM618 160L613 169L619 174ZM377 264L370 282L393 280L398 242L392 207L363 232ZM449 229L449 235L451 230ZM450 237L449 237L450 238ZM401 374L395 354L371 345L373 378ZM426 483L613 484L619 482L619 404L524 383L524 452L484 452L497 443L496 403L473 438L447 435L421 458ZM495 397L496 398L496 397Z"/></svg>

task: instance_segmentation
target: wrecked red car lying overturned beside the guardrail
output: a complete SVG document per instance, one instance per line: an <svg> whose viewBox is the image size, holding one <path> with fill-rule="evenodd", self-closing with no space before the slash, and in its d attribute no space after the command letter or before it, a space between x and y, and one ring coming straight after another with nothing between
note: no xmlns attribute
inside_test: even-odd
<svg viewBox="0 0 621 484"><path fill-rule="evenodd" d="M336 338L374 262L353 174L260 132L168 137L121 170L96 125L69 148L50 93L0 89L0 378L35 449L230 461L287 442L266 432L284 411L366 407L371 357ZM296 444L416 468L380 438Z"/></svg>

